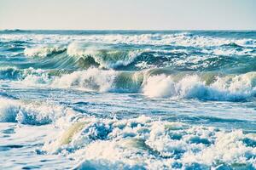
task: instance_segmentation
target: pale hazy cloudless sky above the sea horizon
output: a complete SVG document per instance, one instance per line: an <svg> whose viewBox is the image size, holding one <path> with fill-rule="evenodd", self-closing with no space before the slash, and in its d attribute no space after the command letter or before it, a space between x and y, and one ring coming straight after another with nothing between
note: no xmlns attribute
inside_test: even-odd
<svg viewBox="0 0 256 170"><path fill-rule="evenodd" d="M0 29L256 29L256 0L0 0Z"/></svg>

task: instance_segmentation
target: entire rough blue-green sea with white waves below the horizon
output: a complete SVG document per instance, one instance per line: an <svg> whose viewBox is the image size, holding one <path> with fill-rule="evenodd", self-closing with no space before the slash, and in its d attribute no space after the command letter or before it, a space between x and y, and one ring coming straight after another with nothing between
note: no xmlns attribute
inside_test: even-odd
<svg viewBox="0 0 256 170"><path fill-rule="evenodd" d="M1 169L256 169L256 31L0 31Z"/></svg>

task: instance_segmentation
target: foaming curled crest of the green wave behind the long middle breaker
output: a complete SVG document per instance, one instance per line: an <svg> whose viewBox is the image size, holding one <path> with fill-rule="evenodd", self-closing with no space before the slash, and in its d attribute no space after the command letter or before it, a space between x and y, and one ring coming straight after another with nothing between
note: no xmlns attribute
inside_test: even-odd
<svg viewBox="0 0 256 170"><path fill-rule="evenodd" d="M91 46L87 44L71 43L67 48L60 46L42 46L26 48L24 54L33 58L71 58L82 68L99 66L101 68L117 68L130 65L141 50L111 49L107 46ZM61 54L61 56L60 56Z"/></svg>

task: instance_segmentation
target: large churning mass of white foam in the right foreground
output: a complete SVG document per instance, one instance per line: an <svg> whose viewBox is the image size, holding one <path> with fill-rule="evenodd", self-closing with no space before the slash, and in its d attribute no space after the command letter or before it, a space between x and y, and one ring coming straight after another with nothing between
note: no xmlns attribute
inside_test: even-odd
<svg viewBox="0 0 256 170"><path fill-rule="evenodd" d="M78 122L84 122L84 127L69 143L61 145L60 135L46 142L44 150L81 161L80 168L210 168L232 167L236 162L255 168L256 148L247 140L256 137L241 130L154 121L147 116L126 120L84 117Z"/></svg>

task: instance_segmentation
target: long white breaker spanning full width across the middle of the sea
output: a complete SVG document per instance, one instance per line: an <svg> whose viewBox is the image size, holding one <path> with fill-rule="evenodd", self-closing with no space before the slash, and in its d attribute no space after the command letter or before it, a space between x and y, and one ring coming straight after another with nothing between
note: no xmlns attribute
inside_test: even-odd
<svg viewBox="0 0 256 170"><path fill-rule="evenodd" d="M256 95L256 73L177 72L166 69L113 71L23 72L8 68L6 77L24 86L78 88L85 91L142 93L149 98L181 98L242 101ZM4 71L3 71L4 72ZM6 78L3 77L3 80Z"/></svg>

